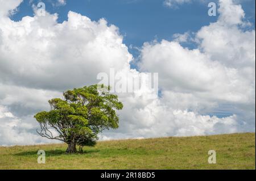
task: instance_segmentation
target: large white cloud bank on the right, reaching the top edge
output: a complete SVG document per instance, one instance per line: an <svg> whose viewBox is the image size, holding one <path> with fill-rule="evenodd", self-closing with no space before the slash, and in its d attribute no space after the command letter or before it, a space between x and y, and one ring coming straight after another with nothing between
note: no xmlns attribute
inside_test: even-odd
<svg viewBox="0 0 256 181"><path fill-rule="evenodd" d="M255 131L255 30L241 28L245 14L240 5L220 1L218 11L216 23L195 33L198 48L179 44L187 34L177 35L178 41L144 43L140 68L161 73L163 105L199 113L229 105L230 113L240 115L229 117L237 129Z"/></svg>

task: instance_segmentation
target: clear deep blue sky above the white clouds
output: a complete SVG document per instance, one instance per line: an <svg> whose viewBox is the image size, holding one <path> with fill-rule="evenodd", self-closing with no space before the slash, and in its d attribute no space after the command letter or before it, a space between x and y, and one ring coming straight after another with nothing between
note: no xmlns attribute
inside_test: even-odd
<svg viewBox="0 0 256 181"><path fill-rule="evenodd" d="M67 20L68 11L78 12L92 20L105 18L108 23L119 28L123 35L123 42L129 47L129 52L137 57L137 49L144 42L152 40L171 40L175 33L196 32L211 22L216 22L217 16L208 16L208 2L185 3L177 8L163 5L160 0L67 0L65 6L53 6L55 0L34 0L46 4L46 10L59 14L58 22ZM17 21L23 16L33 15L32 3L24 0L19 11L11 17ZM246 13L246 19L255 24L255 1L241 2ZM251 28L254 28L255 25ZM192 45L187 45L192 47Z"/></svg>

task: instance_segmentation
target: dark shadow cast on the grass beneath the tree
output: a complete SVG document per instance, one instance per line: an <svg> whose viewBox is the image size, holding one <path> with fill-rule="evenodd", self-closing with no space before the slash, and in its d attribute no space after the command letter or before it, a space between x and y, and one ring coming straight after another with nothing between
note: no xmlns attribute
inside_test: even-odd
<svg viewBox="0 0 256 181"><path fill-rule="evenodd" d="M46 150L46 156L59 156L59 155L79 155L79 154L90 154L90 153L97 153L100 150L84 150L83 153L74 153L74 154L66 154L65 150ZM14 154L16 156L30 156L30 155L38 155L38 151L22 151L20 153Z"/></svg>

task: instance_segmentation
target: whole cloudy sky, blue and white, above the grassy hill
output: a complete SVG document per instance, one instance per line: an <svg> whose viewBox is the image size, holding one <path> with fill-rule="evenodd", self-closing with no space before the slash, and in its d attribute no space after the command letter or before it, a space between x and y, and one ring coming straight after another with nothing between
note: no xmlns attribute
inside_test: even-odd
<svg viewBox="0 0 256 181"><path fill-rule="evenodd" d="M158 73L159 96L118 93L119 128L101 140L255 132L253 0L0 5L0 145L51 142L36 134L33 115L110 68L124 77Z"/></svg>

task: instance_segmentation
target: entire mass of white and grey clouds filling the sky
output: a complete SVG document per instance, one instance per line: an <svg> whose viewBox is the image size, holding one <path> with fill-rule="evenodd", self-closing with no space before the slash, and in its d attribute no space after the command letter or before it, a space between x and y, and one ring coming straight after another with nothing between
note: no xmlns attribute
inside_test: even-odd
<svg viewBox="0 0 256 181"><path fill-rule="evenodd" d="M33 115L110 68L135 77L159 73L160 96L119 93L120 127L102 133L104 140L255 131L255 30L243 30L245 13L232 1L221 0L217 22L198 32L144 43L139 70L130 68L133 56L105 19L69 11L63 23L48 12L14 22L8 15L19 3L0 8L0 145L48 141L36 135ZM191 40L197 48L180 45ZM213 115L224 107L228 115Z"/></svg>

